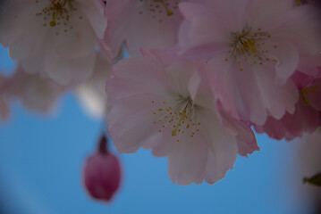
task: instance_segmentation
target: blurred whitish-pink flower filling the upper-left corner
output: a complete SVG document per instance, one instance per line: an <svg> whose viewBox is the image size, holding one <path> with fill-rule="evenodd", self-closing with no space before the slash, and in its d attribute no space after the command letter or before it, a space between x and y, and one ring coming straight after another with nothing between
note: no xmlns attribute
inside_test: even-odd
<svg viewBox="0 0 321 214"><path fill-rule="evenodd" d="M103 2L14 0L5 8L0 43L24 70L63 85L91 76L98 38L106 29Z"/></svg>

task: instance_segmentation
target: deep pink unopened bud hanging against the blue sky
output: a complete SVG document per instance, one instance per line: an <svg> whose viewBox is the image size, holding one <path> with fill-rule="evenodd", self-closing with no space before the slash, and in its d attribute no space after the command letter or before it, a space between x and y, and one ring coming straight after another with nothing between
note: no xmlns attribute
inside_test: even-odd
<svg viewBox="0 0 321 214"><path fill-rule="evenodd" d="M107 152L106 143L103 136L98 152L86 161L83 177L93 198L109 202L121 183L121 167L117 157Z"/></svg>

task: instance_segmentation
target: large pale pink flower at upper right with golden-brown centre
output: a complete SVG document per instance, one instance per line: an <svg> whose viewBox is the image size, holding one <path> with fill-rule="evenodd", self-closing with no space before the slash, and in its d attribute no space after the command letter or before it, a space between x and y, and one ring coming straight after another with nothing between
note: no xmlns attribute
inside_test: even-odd
<svg viewBox="0 0 321 214"><path fill-rule="evenodd" d="M318 14L292 0L181 3L184 56L208 60L207 78L226 111L263 125L293 113L299 94L291 75L317 74L321 64Z"/></svg>

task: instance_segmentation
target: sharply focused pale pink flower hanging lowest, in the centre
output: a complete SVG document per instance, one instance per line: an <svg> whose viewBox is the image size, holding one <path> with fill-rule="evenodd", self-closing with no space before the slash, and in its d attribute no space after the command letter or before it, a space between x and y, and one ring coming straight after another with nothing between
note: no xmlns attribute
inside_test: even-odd
<svg viewBox="0 0 321 214"><path fill-rule="evenodd" d="M232 169L237 153L258 150L244 123L220 112L192 63L160 51L117 62L107 81L108 131L119 152L152 149L168 157L179 185L214 184Z"/></svg>

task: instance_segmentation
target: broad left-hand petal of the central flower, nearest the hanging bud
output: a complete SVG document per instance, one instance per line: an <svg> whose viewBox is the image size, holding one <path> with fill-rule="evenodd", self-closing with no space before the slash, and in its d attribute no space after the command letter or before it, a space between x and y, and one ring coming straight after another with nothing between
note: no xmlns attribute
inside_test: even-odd
<svg viewBox="0 0 321 214"><path fill-rule="evenodd" d="M154 124L157 116L153 100L165 100L157 95L132 95L114 104L107 115L109 135L118 152L136 152L148 137L161 135Z"/></svg>

